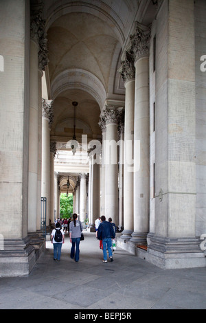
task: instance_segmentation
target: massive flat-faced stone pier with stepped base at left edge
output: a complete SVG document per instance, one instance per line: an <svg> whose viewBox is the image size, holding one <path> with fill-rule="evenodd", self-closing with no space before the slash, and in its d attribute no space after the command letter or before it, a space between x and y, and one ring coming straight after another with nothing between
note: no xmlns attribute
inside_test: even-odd
<svg viewBox="0 0 206 323"><path fill-rule="evenodd" d="M27 238L30 3L1 1L0 30L0 268L1 277L26 276L36 262Z"/></svg>

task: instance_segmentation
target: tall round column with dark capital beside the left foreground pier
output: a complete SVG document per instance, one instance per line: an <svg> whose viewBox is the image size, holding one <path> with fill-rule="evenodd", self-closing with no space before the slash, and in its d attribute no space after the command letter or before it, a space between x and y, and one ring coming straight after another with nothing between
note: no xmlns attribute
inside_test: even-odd
<svg viewBox="0 0 206 323"><path fill-rule="evenodd" d="M31 5L30 135L28 232L40 229L41 216L41 77L47 65L47 39L41 3Z"/></svg>

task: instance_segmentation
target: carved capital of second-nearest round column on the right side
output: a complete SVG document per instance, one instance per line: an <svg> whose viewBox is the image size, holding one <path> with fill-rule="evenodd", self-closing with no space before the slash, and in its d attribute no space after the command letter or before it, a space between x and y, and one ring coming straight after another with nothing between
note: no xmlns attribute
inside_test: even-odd
<svg viewBox="0 0 206 323"><path fill-rule="evenodd" d="M118 71L124 81L135 78L135 56L133 52L125 52L125 59L121 61L121 65Z"/></svg>

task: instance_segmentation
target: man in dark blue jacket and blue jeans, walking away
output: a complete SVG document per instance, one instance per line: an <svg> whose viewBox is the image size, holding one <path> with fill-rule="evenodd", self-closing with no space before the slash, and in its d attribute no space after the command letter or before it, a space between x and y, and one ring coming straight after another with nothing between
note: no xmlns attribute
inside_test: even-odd
<svg viewBox="0 0 206 323"><path fill-rule="evenodd" d="M113 261L113 252L111 250L112 245L112 238L115 238L115 232L113 230L113 226L110 222L106 221L106 218L104 215L101 216L101 223L98 227L98 239L102 240L103 245L103 256L104 260L103 263L107 263L107 254L106 249L108 249L108 256L110 258L110 261Z"/></svg>

